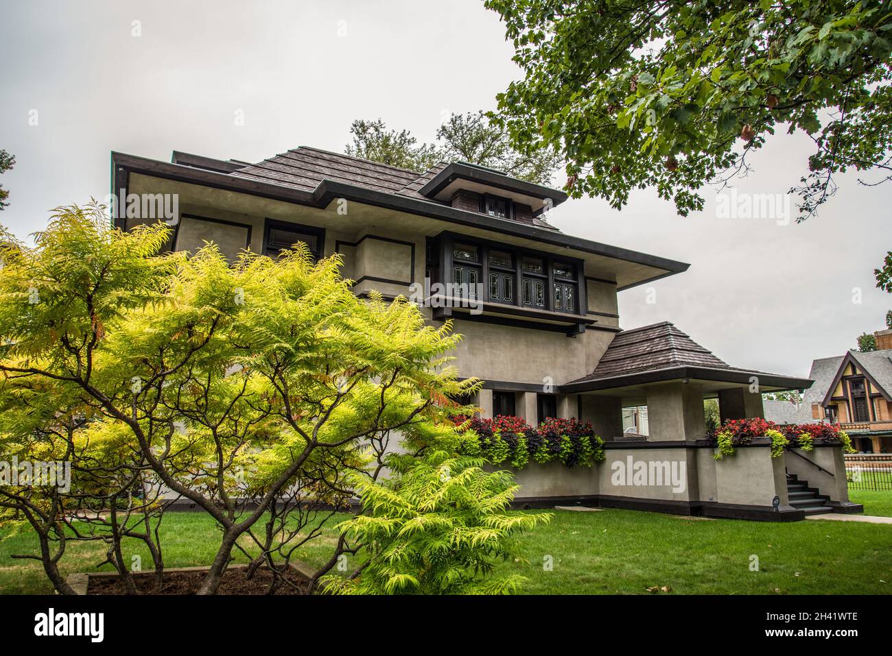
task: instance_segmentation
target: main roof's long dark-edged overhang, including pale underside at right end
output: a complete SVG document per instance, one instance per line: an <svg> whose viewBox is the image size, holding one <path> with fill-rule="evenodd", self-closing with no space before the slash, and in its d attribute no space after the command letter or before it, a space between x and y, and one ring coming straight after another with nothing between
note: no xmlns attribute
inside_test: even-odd
<svg viewBox="0 0 892 656"><path fill-rule="evenodd" d="M178 158L179 161L179 158ZM220 160L212 160L220 161ZM196 162L197 164L197 162ZM477 212L452 208L434 201L422 201L400 194L378 192L367 187L334 180L323 180L312 192L284 184L261 182L247 177L230 176L208 167L188 166L151 160L121 152L111 152L111 187L116 196L120 190L128 189L128 176L131 173L159 177L187 184L197 184L225 191L268 198L275 201L295 203L317 209L327 208L336 199L346 199L406 214L430 217L453 225L475 228L479 231L509 235L518 242L547 244L554 250L567 252L586 260L586 275L600 283L616 284L617 291L623 291L640 284L650 283L668 275L687 271L690 264L672 259L660 258L636 250L591 242L554 230L539 228L503 218L489 217ZM533 185L536 186L536 185ZM119 225L115 217L115 225ZM121 225L122 227L122 225ZM612 272L612 273L611 273Z"/></svg>

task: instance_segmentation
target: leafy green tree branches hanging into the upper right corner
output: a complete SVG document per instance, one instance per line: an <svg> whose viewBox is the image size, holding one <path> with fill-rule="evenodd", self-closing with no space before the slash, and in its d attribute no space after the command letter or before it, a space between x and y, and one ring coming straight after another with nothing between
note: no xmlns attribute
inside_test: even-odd
<svg viewBox="0 0 892 656"><path fill-rule="evenodd" d="M652 187L682 216L775 130L814 141L800 220L848 169L892 174L892 13L877 0L486 0L524 79L498 96L516 148L553 147L568 191L621 209Z"/></svg>

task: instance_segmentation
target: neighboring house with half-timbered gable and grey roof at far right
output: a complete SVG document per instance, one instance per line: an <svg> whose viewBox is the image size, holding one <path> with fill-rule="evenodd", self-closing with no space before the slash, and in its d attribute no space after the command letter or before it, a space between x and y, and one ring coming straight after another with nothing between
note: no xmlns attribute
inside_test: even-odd
<svg viewBox="0 0 892 656"><path fill-rule="evenodd" d="M790 423L838 423L858 451L892 453L892 330L874 334L878 350L814 360L814 385Z"/></svg>

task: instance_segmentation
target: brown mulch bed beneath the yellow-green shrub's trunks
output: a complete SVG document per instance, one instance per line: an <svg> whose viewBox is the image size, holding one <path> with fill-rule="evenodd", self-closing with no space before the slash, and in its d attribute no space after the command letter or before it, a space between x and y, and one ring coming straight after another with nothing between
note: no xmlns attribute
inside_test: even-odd
<svg viewBox="0 0 892 656"><path fill-rule="evenodd" d="M223 574L217 594L267 594L273 575L269 570L260 569L252 578L245 578L246 568L229 568ZM206 570L172 570L164 572L161 590L155 589L154 572L139 572L133 575L133 584L139 594L195 594L204 579ZM280 583L276 594L307 594L307 580L290 570L288 580L299 590ZM127 594L124 584L117 576L89 578L87 594Z"/></svg>

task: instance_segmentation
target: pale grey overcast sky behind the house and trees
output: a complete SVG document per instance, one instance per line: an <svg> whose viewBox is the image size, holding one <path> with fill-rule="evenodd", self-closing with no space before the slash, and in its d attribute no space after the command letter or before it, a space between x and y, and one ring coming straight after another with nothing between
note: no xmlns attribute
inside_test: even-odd
<svg viewBox="0 0 892 656"><path fill-rule="evenodd" d="M9 3L0 148L16 166L0 176L12 192L0 223L25 237L47 209L103 197L112 150L166 161L175 149L248 161L301 144L340 152L353 119L377 117L433 141L450 112L494 108L519 77L511 55L482 0ZM809 152L802 136L772 138L738 192L786 193ZM892 184L839 183L801 225L718 218L713 189L687 218L649 191L621 212L583 199L550 218L690 262L653 283L654 303L647 287L622 292L624 328L669 320L731 365L805 375L884 327L892 307L872 273L892 248Z"/></svg>

